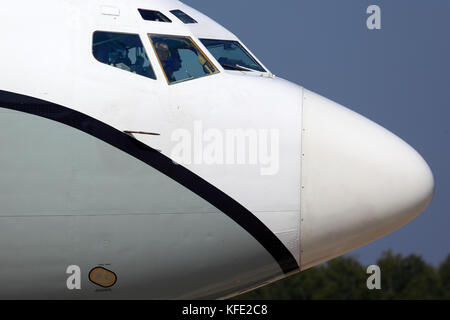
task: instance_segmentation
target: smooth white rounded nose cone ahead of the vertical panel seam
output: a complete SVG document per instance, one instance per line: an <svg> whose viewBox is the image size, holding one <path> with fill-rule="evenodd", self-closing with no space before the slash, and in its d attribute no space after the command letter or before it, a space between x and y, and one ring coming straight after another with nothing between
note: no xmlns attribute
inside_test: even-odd
<svg viewBox="0 0 450 320"><path fill-rule="evenodd" d="M393 232L431 202L429 166L394 134L308 90L302 121L302 270Z"/></svg>

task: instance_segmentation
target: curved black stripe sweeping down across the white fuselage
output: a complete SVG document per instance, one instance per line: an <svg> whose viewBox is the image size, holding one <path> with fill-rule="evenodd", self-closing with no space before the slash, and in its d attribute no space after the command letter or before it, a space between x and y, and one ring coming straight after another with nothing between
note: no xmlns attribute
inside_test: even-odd
<svg viewBox="0 0 450 320"><path fill-rule="evenodd" d="M29 113L68 125L145 162L234 220L273 256L284 273L299 268L294 256L280 239L249 210L185 167L175 164L159 151L83 113L33 97L0 90L0 108Z"/></svg>

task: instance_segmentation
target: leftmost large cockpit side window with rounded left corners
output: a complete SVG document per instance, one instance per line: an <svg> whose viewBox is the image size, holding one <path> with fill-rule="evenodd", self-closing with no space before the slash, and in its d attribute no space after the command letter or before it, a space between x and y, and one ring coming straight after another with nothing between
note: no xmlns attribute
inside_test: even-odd
<svg viewBox="0 0 450 320"><path fill-rule="evenodd" d="M93 54L101 63L156 79L137 34L97 31L94 33Z"/></svg>

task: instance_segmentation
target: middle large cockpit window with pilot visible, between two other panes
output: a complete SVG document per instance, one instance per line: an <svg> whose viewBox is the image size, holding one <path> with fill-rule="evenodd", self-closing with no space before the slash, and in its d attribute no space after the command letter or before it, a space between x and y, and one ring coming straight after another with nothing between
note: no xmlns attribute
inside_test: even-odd
<svg viewBox="0 0 450 320"><path fill-rule="evenodd" d="M169 84L218 72L190 37L149 34Z"/></svg>

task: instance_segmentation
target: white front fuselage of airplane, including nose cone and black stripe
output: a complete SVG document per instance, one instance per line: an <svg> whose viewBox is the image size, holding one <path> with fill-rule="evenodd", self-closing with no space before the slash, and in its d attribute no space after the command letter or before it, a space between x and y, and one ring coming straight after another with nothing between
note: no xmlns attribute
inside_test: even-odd
<svg viewBox="0 0 450 320"><path fill-rule="evenodd" d="M1 298L223 298L382 237L431 201L431 171L405 142L268 70L224 69L200 39L239 39L178 1L17 0L0 27ZM98 31L138 35L156 79L100 63ZM168 84L151 34L190 37L218 72ZM236 132L255 158L225 148ZM177 164L183 133L191 161ZM212 145L224 152L211 159ZM81 290L66 286L71 265ZM97 266L117 282L100 290Z"/></svg>

